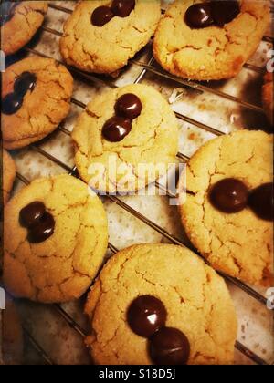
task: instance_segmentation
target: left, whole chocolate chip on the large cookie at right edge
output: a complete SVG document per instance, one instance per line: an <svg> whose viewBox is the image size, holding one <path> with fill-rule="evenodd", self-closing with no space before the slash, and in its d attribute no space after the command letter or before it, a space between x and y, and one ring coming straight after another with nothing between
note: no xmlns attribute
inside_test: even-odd
<svg viewBox="0 0 274 383"><path fill-rule="evenodd" d="M209 200L221 212L240 212L248 205L248 188L242 181L225 178L213 185Z"/></svg>

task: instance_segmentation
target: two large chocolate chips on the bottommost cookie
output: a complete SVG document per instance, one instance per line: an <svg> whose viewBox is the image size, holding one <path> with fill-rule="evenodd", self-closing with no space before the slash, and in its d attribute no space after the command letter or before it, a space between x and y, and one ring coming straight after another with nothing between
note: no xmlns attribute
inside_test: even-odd
<svg viewBox="0 0 274 383"><path fill-rule="evenodd" d="M127 321L138 336L149 339L149 352L157 365L184 365L190 355L187 337L178 329L166 327L167 312L153 295L141 295L132 301Z"/></svg>

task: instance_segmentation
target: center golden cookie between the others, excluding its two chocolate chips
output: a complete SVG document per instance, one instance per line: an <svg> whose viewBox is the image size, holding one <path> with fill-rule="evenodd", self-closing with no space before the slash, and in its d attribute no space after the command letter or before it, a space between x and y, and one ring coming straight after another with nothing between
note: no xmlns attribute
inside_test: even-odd
<svg viewBox="0 0 274 383"><path fill-rule="evenodd" d="M132 130L122 140L111 142L104 137L103 127L117 113L118 100L128 94L141 101L141 114L132 119ZM107 192L137 191L176 162L178 123L157 90L130 85L93 98L80 115L72 139L79 174L91 187Z"/></svg>

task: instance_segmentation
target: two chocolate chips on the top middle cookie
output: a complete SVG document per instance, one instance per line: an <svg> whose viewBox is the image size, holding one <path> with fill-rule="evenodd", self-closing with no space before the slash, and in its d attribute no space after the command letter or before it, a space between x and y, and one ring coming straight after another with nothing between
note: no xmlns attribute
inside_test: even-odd
<svg viewBox="0 0 274 383"><path fill-rule="evenodd" d="M102 5L91 15L93 26L104 26L115 16L127 17L135 8L135 0L113 0L111 6Z"/></svg>

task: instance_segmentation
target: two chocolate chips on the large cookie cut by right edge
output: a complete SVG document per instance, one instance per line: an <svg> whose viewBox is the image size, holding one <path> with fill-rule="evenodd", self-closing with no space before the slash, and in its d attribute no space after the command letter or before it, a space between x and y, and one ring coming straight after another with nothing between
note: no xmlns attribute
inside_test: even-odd
<svg viewBox="0 0 274 383"><path fill-rule="evenodd" d="M273 183L264 183L253 191L235 178L216 182L209 191L209 200L221 212L240 212L250 207L265 221L273 221Z"/></svg>

